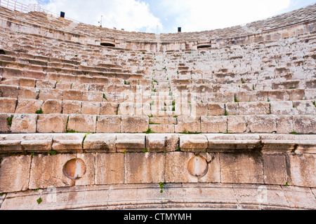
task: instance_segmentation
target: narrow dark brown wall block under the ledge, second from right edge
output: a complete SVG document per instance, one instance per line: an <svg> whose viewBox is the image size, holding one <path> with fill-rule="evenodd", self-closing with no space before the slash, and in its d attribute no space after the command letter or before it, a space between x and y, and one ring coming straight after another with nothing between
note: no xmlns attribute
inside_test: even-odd
<svg viewBox="0 0 316 224"><path fill-rule="evenodd" d="M263 155L265 184L284 185L287 183L287 165L284 155Z"/></svg>

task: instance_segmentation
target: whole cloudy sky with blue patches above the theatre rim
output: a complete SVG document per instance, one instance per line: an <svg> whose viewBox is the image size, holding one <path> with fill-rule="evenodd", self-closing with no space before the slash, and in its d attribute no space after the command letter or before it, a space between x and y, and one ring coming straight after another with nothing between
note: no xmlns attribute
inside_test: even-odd
<svg viewBox="0 0 316 224"><path fill-rule="evenodd" d="M18 0L19 1L19 0ZM37 0L20 0L29 3ZM316 0L39 0L53 13L91 25L174 33L242 25L316 3Z"/></svg>

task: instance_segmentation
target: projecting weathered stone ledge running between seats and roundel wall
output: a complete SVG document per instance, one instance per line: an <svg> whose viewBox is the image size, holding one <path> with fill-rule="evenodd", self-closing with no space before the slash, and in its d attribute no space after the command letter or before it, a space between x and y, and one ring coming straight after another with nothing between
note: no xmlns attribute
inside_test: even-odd
<svg viewBox="0 0 316 224"><path fill-rule="evenodd" d="M262 151L316 153L316 135L283 134L0 134L0 153Z"/></svg>

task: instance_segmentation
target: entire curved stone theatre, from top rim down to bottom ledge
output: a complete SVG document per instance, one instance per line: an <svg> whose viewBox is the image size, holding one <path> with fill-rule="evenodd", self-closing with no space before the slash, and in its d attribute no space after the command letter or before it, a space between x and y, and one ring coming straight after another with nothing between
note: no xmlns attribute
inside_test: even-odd
<svg viewBox="0 0 316 224"><path fill-rule="evenodd" d="M315 13L155 35L0 8L0 209L315 209Z"/></svg>

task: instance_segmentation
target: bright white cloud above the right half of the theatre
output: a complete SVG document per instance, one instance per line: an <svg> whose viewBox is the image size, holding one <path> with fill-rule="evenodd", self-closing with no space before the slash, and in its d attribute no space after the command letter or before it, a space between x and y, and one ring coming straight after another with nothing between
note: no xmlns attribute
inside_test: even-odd
<svg viewBox="0 0 316 224"><path fill-rule="evenodd" d="M277 15L291 0L162 0L166 13L183 31L202 31L242 25ZM174 27L176 28L176 27Z"/></svg>

